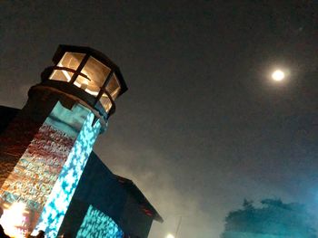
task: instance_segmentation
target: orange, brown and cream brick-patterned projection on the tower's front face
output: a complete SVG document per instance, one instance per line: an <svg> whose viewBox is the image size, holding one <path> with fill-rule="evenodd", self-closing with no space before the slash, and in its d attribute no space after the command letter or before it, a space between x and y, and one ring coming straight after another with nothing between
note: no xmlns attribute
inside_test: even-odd
<svg viewBox="0 0 318 238"><path fill-rule="evenodd" d="M40 212L74 141L45 123L1 187L2 199L9 204L23 202L29 209Z"/></svg>

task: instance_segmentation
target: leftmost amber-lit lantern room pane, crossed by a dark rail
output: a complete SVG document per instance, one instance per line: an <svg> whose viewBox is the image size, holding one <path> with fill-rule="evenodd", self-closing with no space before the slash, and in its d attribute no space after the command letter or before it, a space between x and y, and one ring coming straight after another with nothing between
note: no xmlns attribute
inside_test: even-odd
<svg viewBox="0 0 318 238"><path fill-rule="evenodd" d="M57 66L76 70L83 59L84 53L65 52L65 55L61 61L58 62ZM55 81L71 81L73 74L71 71L55 70L49 79Z"/></svg>

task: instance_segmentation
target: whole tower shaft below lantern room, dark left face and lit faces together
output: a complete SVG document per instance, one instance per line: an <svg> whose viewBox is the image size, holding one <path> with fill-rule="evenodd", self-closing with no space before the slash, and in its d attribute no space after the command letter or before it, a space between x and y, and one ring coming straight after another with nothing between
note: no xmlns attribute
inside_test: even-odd
<svg viewBox="0 0 318 238"><path fill-rule="evenodd" d="M82 104L35 91L0 135L0 205L24 203L25 229L55 237L100 130Z"/></svg>

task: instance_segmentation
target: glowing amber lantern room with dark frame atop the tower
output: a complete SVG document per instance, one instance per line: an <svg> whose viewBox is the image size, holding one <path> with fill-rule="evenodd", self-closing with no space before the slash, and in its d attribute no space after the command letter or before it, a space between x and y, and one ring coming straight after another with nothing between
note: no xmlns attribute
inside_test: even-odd
<svg viewBox="0 0 318 238"><path fill-rule="evenodd" d="M106 118L114 113L114 100L127 90L114 62L102 52L73 45L60 45L53 62L55 66L42 73L41 85L84 100Z"/></svg>

